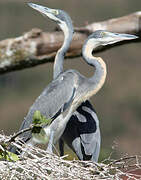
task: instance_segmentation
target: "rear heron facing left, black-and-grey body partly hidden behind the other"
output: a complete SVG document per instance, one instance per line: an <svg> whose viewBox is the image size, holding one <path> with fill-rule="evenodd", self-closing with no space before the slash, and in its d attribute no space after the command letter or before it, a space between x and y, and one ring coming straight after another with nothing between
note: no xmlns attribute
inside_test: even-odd
<svg viewBox="0 0 141 180"><path fill-rule="evenodd" d="M67 52L73 37L73 25L69 15L62 11L60 16L53 16L44 11L43 6L30 4L30 6L42 14L48 16L50 19L57 22L62 31L64 32L64 43L58 50L55 63L53 78L57 78L63 72L64 55ZM49 8L47 8L49 10ZM55 11L50 9L51 11ZM59 140L60 155L64 155L64 142L76 153L81 160L98 160L100 151L100 129L99 121L95 110L89 101L83 102L78 109L73 113L65 131Z"/></svg>

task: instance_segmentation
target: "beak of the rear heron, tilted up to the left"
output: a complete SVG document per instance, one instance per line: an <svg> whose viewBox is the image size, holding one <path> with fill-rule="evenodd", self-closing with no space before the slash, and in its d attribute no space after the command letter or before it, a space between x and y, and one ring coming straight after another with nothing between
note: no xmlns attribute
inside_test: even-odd
<svg viewBox="0 0 141 180"><path fill-rule="evenodd" d="M49 16L50 14L55 15L55 13L56 13L56 10L50 9L48 7L45 7L45 6L37 5L37 4L34 4L34 3L27 3L27 4L30 7L32 7L33 9L39 11L41 14L46 15L46 16Z"/></svg>

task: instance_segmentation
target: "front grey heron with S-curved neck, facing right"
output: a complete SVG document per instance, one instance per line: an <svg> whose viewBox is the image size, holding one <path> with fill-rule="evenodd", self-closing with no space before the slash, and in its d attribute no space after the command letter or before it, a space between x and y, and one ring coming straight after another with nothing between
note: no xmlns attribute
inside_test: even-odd
<svg viewBox="0 0 141 180"><path fill-rule="evenodd" d="M50 13L50 16L54 16L54 18L60 15L58 10L50 11L48 8L43 8L42 10L44 13ZM49 144L49 149L52 151L52 143L56 143L61 137L72 113L82 102L85 102L96 94L105 82L106 65L101 58L92 56L92 50L100 45L112 44L134 38L136 38L136 36L115 34L106 31L96 31L89 36L83 46L82 53L84 60L89 65L95 67L94 75L91 78L86 78L76 70L68 70L61 73L45 88L31 106L21 129L28 127L32 123L32 117L36 110L39 110L47 119L53 118L52 123L44 127L47 136L51 136L50 139L52 139L52 142ZM29 139L33 141L31 133L29 132L24 133L22 136L25 142Z"/></svg>

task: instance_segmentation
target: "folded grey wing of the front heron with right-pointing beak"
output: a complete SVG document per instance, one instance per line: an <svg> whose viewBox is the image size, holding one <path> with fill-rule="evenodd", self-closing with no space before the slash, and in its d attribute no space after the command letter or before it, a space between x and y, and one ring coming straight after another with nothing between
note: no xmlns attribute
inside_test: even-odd
<svg viewBox="0 0 141 180"><path fill-rule="evenodd" d="M32 123L32 117L36 110L48 118L56 118L60 113L64 112L71 102L75 94L75 76L73 72L65 72L56 80L52 81L35 100L25 117L20 130L25 129ZM22 134L24 141L27 141L31 133Z"/></svg>

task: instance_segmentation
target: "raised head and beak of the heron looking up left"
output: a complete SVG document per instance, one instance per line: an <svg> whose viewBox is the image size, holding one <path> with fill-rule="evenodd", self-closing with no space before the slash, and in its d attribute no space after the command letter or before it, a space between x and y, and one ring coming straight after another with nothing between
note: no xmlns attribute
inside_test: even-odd
<svg viewBox="0 0 141 180"><path fill-rule="evenodd" d="M30 7L39 11L42 15L49 17L53 21L57 22L61 29L66 28L66 25L72 26L70 16L63 10L51 9L45 6L37 5L34 3L28 3ZM73 28L72 28L73 29Z"/></svg>

